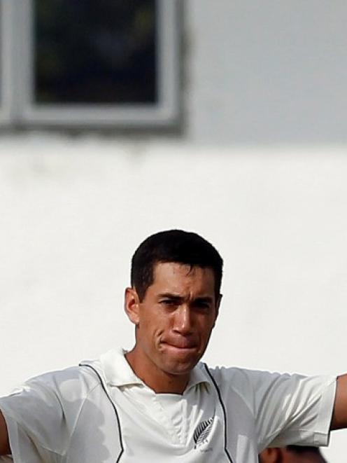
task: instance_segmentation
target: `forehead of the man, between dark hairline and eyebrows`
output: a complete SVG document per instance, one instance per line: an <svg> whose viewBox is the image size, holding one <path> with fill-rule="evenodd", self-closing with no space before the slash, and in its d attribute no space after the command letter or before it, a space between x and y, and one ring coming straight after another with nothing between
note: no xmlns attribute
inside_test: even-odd
<svg viewBox="0 0 347 463"><path fill-rule="evenodd" d="M214 293L215 277L211 268L191 267L176 262L157 263L153 268L154 288L165 291L194 290Z"/></svg>

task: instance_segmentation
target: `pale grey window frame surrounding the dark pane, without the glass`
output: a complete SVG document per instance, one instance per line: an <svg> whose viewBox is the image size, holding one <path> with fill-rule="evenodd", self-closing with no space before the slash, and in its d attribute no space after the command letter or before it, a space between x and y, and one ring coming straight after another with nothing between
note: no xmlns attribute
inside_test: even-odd
<svg viewBox="0 0 347 463"><path fill-rule="evenodd" d="M1 1L1 0L0 0ZM157 92L156 104L45 104L34 103L34 3L12 2L12 18L20 25L12 37L13 68L17 78L12 87L15 111L11 120L24 127L169 127L178 122L179 60L178 0L157 0ZM14 28L13 28L14 29ZM7 31L10 36L10 32ZM7 57L8 58L8 57ZM7 81L8 82L8 81ZM6 84L5 84L6 85Z"/></svg>

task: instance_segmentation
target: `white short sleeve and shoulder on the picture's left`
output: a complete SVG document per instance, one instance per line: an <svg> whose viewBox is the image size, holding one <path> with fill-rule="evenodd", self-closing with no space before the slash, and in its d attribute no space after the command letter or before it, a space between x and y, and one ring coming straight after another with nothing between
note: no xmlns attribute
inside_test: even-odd
<svg viewBox="0 0 347 463"><path fill-rule="evenodd" d="M2 397L13 461L61 462L89 390L90 382L76 368L67 368L33 378Z"/></svg>

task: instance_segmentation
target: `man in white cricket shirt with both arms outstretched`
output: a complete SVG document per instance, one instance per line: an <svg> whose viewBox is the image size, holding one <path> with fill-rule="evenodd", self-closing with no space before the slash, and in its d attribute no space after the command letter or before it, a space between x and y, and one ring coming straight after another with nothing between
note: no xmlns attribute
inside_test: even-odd
<svg viewBox="0 0 347 463"><path fill-rule="evenodd" d="M256 463L270 445L327 445L330 429L347 424L346 375L199 362L221 278L222 258L199 235L148 237L125 291L134 348L41 375L1 399L0 455L15 463Z"/></svg>

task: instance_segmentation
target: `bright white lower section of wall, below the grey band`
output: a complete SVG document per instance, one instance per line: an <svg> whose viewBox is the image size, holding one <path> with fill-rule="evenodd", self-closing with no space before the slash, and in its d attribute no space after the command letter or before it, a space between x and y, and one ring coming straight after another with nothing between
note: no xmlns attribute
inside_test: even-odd
<svg viewBox="0 0 347 463"><path fill-rule="evenodd" d="M114 344L130 347L129 258L146 235L172 227L197 230L225 257L206 360L346 370L343 150L41 136L3 139L0 162L2 394Z"/></svg>

